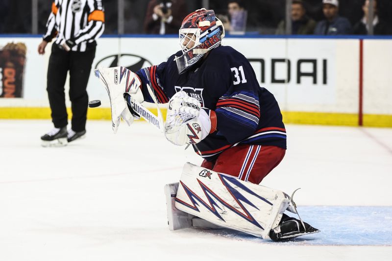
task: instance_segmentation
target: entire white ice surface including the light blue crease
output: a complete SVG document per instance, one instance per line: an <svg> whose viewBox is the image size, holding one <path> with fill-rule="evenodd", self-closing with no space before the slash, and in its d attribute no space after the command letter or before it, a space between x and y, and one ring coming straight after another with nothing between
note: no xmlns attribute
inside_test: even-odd
<svg viewBox="0 0 392 261"><path fill-rule="evenodd" d="M263 185L291 193L321 230L274 243L231 230L167 228L163 187L200 164L145 122L89 121L43 148L49 120L0 120L0 261L392 260L392 129L288 125Z"/></svg>

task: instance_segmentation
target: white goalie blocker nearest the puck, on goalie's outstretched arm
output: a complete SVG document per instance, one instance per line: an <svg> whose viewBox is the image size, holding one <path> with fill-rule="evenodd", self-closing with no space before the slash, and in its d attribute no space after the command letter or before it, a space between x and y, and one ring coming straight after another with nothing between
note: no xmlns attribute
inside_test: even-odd
<svg viewBox="0 0 392 261"><path fill-rule="evenodd" d="M132 124L134 116L128 109L124 94L131 95L139 103L143 102L143 94L140 90L141 82L139 77L125 67L98 68L95 70L96 76L101 80L106 88L110 99L112 113L112 128L116 133L120 125L121 118L128 124Z"/></svg>

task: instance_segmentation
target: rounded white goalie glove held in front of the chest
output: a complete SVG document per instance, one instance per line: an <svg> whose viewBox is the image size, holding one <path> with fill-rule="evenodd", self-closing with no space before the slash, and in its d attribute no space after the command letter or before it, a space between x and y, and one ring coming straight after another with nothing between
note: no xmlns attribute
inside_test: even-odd
<svg viewBox="0 0 392 261"><path fill-rule="evenodd" d="M169 101L165 137L175 145L195 144L208 136L211 120L200 102L179 91Z"/></svg>

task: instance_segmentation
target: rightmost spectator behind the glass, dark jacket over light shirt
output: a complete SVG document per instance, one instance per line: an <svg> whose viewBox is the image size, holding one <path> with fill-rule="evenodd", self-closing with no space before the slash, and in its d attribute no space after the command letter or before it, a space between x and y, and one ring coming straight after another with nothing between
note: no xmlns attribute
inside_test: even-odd
<svg viewBox="0 0 392 261"><path fill-rule="evenodd" d="M368 15L369 15L369 0L365 0L362 10L364 11L364 17L354 25L354 34L368 34ZM373 0L373 34L375 35L387 35L392 34L391 26L383 23L379 20L377 15L377 1Z"/></svg>

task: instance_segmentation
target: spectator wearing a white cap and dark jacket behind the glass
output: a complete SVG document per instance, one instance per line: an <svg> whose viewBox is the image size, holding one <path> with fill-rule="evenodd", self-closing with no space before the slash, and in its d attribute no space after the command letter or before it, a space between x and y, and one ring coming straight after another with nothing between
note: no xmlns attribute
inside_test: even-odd
<svg viewBox="0 0 392 261"><path fill-rule="evenodd" d="M339 16L338 0L322 0L322 12L325 20L316 25L315 34L318 35L339 35L351 34L351 24L347 18Z"/></svg>

